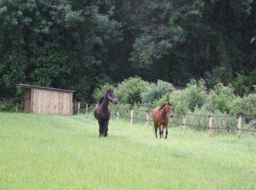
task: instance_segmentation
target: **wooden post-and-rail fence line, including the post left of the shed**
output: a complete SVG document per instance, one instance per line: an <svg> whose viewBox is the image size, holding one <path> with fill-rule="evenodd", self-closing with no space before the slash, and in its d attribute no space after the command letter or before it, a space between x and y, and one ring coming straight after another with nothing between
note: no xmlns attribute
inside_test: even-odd
<svg viewBox="0 0 256 190"><path fill-rule="evenodd" d="M90 113L93 110L94 107L94 103L74 103L74 110L77 109L77 114L80 113ZM15 111L16 113L19 112L19 108L20 104L16 103L13 107L13 111ZM145 128L148 129L148 125L150 122L153 122L152 119L150 119L150 113L152 113L152 110L142 110L142 109L134 109L134 108L114 108L115 111L115 118L116 121L119 121L119 119L130 119L130 125L132 126L132 124L134 124L135 121L143 121L145 122ZM127 115L122 115L122 113L120 113L121 111L125 111ZM139 114L139 116L137 117L136 114ZM141 116L142 114L142 116ZM113 115L113 114L112 114ZM194 124L189 123L189 117L194 117L196 118L200 124ZM208 119L207 119L208 118ZM217 126L216 124L214 124L214 121L216 119L216 121L218 119L226 119L226 123L221 123L221 127ZM180 119L180 122L175 122L172 121L173 119ZM252 125L253 127L251 127L251 129L246 129L243 128L243 124L246 126L248 125L250 127L250 125L248 124L248 120L255 120L254 123L256 123L256 118L253 117L249 117L247 115L239 115L239 116L235 116L235 115L205 115L205 114L195 114L195 113L183 113L183 114L175 114L175 117L172 120L169 121L169 124L176 124L178 126L183 126L183 134L186 134L186 129L187 127L191 127L191 128L196 128L196 129L207 129L208 130L208 136L211 137L213 131L216 130L225 130L227 132L229 131L235 131L237 130L237 136L242 135L242 132L252 132L252 133L256 133L256 126ZM202 122L202 119L205 119L204 122ZM207 120L206 120L207 119ZM236 119L236 121L233 120L232 124L229 124L228 126L228 122L229 120L227 119ZM229 121L230 122L230 121ZM201 124L203 123L203 124ZM224 127L223 127L224 125ZM232 125L232 127L230 127ZM236 126L234 126L236 125Z"/></svg>

